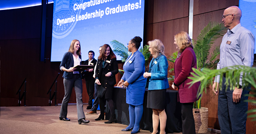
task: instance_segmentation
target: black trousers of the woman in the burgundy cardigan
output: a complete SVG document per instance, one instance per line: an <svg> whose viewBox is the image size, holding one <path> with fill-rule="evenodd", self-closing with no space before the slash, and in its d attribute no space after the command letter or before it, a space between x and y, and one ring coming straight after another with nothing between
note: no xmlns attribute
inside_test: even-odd
<svg viewBox="0 0 256 134"><path fill-rule="evenodd" d="M193 104L194 102L181 103L182 134L196 134Z"/></svg>

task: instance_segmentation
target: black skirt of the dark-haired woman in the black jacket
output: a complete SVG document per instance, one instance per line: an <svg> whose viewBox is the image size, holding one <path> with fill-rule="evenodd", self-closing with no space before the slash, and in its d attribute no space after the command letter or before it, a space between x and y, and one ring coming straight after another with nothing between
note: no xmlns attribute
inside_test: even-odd
<svg viewBox="0 0 256 134"><path fill-rule="evenodd" d="M101 71L99 80L101 85L98 85L100 87L98 87L97 96L99 98L113 99L114 85L110 86L108 84L107 78L103 71Z"/></svg>

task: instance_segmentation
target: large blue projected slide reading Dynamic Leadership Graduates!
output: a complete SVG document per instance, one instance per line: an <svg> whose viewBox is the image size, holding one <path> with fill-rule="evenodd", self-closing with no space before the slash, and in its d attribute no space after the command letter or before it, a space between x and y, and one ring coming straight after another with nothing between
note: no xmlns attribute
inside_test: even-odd
<svg viewBox="0 0 256 134"><path fill-rule="evenodd" d="M61 61L74 39L80 41L82 61L90 50L97 59L99 47L110 41L126 45L135 36L143 39L144 0L54 0L53 6L51 61Z"/></svg>

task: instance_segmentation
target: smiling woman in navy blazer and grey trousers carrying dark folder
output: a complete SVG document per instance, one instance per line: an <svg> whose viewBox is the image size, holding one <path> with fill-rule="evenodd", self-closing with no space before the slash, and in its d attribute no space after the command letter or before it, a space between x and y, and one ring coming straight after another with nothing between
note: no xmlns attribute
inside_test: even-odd
<svg viewBox="0 0 256 134"><path fill-rule="evenodd" d="M65 87L65 96L62 100L60 108L60 120L70 121L67 118L68 113L68 101L72 93L72 88L74 87L76 92L76 108L77 108L77 117L78 123L89 123L90 121L85 120L84 107L82 100L83 85L82 77L80 71L74 71L76 68L73 68L76 65L81 65L81 48L80 42L78 40L71 41L68 52L64 54L62 61L60 63L60 70L64 71L63 73L63 83Z"/></svg>

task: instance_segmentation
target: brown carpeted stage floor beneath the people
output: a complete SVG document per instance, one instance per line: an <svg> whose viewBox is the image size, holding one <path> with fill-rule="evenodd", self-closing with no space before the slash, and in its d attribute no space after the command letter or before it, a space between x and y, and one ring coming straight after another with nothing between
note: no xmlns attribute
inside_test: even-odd
<svg viewBox="0 0 256 134"><path fill-rule="evenodd" d="M84 113L87 110L84 105ZM60 121L61 106L47 107L1 107L0 108L0 133L2 134L34 134L34 133L61 133L61 134L128 134L121 131L126 125L119 123L105 124L107 120L95 121L97 114L86 115L90 123L81 125L77 122L76 105L68 106L68 118L71 121ZM140 130L140 134L151 134L148 130ZM182 134L182 133L173 133ZM208 131L207 134L217 134Z"/></svg>

